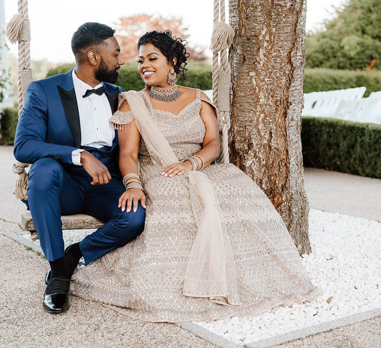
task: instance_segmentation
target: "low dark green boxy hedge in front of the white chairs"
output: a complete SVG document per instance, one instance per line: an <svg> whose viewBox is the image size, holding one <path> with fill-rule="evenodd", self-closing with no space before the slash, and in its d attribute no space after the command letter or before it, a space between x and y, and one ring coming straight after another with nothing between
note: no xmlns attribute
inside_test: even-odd
<svg viewBox="0 0 381 348"><path fill-rule="evenodd" d="M302 117L305 167L381 178L381 125Z"/></svg>

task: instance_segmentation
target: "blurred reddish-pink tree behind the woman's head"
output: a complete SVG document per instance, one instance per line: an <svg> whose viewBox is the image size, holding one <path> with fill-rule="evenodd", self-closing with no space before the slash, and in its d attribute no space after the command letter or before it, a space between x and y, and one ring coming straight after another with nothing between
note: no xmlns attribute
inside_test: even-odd
<svg viewBox="0 0 381 348"><path fill-rule="evenodd" d="M188 28L183 24L182 18L164 18L161 15L137 14L119 18L116 23L116 35L122 47L123 55L127 61L136 59L136 44L139 37L147 31L164 31L170 29L172 34L185 40L189 37ZM206 59L205 47L188 45L187 51L190 59L202 61Z"/></svg>

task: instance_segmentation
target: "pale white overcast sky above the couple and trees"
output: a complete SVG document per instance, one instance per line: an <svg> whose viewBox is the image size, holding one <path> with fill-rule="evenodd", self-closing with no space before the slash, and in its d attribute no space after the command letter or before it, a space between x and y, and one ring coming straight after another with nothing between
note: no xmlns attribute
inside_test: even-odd
<svg viewBox="0 0 381 348"><path fill-rule="evenodd" d="M318 27L333 13L332 6L346 0L307 0L307 30ZM228 3L228 1L226 1ZM5 0L5 21L17 13L17 0ZM51 62L70 62L70 39L76 28L88 21L114 26L119 17L138 13L182 17L189 28L188 41L209 47L213 26L213 0L29 0L31 58ZM17 54L17 45L9 44Z"/></svg>

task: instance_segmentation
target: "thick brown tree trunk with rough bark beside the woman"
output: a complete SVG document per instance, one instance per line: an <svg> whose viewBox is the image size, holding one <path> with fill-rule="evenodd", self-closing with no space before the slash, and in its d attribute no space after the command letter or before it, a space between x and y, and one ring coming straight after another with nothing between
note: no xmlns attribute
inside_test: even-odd
<svg viewBox="0 0 381 348"><path fill-rule="evenodd" d="M229 4L235 31L231 162L272 201L299 253L310 253L300 138L306 0Z"/></svg>

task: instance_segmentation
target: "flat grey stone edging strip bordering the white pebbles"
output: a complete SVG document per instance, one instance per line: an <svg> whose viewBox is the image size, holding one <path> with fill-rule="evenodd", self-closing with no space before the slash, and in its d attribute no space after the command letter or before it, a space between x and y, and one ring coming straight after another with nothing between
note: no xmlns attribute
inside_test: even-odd
<svg viewBox="0 0 381 348"><path fill-rule="evenodd" d="M18 235L13 232L8 232L5 234L6 237L24 245L27 248L30 248L35 253L39 255L44 255L41 247L25 238L23 238L21 235ZM267 339L254 341L249 344L245 344L245 347L250 348L256 348L256 347L270 347L275 345L280 345L282 343L290 342L293 340L298 340L305 338L307 336L317 335L322 332L330 331L333 329L337 329L339 327L347 326L350 324L359 323L361 321L372 319L376 317L381 316L381 308L372 309L370 311L361 312L361 313L355 313L343 318L338 318L336 320L331 320L328 322L320 323L318 325L313 325L307 328L303 328L300 330L294 330L286 334L281 334L277 336L272 336ZM192 334L203 338L204 340L222 348L237 348L241 347L240 345L237 345L236 343L229 341L225 338L223 338L220 335L216 335L212 333L209 330L206 330L196 324L193 324L191 322L184 322L184 323L176 323L175 325L181 327L184 330L187 330L191 332Z"/></svg>

